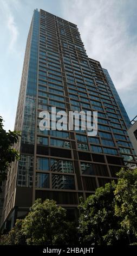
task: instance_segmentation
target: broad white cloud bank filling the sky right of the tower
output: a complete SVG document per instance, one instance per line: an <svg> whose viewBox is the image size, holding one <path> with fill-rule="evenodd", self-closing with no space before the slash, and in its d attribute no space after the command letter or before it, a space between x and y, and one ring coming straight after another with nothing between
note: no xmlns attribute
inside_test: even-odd
<svg viewBox="0 0 137 256"><path fill-rule="evenodd" d="M64 19L78 26L88 56L108 69L126 109L135 111L137 36L130 34L129 23L137 2L69 0L62 4Z"/></svg>

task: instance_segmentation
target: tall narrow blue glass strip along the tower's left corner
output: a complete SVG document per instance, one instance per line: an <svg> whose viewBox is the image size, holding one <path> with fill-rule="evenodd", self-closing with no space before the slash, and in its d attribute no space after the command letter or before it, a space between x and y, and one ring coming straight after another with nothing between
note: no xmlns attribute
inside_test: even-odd
<svg viewBox="0 0 137 256"><path fill-rule="evenodd" d="M38 59L38 35L40 26L40 14L34 11L30 57L28 66L27 90L25 95L24 118L22 127L22 143L33 144L35 137L35 111L37 91L37 59Z"/></svg>

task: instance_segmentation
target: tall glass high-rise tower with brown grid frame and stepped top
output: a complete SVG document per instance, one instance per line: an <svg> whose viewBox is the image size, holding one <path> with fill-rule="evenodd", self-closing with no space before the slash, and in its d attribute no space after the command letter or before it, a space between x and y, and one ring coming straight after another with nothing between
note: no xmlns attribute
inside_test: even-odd
<svg viewBox="0 0 137 256"><path fill-rule="evenodd" d="M15 121L22 131L16 145L21 157L8 173L2 227L10 229L37 198L56 200L74 218L80 196L86 199L116 179L121 167L136 163L129 119L106 72L88 58L76 25L34 11ZM81 128L41 131L39 113L52 106L67 113L97 111L97 136Z"/></svg>

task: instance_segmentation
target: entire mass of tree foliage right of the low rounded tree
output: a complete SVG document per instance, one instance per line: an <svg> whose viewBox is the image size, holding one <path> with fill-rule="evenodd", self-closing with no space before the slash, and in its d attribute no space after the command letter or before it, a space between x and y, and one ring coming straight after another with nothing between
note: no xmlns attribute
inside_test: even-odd
<svg viewBox="0 0 137 256"><path fill-rule="evenodd" d="M97 188L80 205L81 243L118 245L136 242L137 170L122 169L118 184Z"/></svg>

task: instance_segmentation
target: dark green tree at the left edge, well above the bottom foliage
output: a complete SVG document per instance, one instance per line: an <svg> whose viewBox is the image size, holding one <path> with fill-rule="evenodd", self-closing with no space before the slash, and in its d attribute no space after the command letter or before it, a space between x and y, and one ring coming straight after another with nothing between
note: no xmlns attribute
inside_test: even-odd
<svg viewBox="0 0 137 256"><path fill-rule="evenodd" d="M6 179L8 167L15 159L19 159L19 153L13 148L18 142L20 133L16 131L6 132L3 129L3 118L0 117L0 181Z"/></svg>

